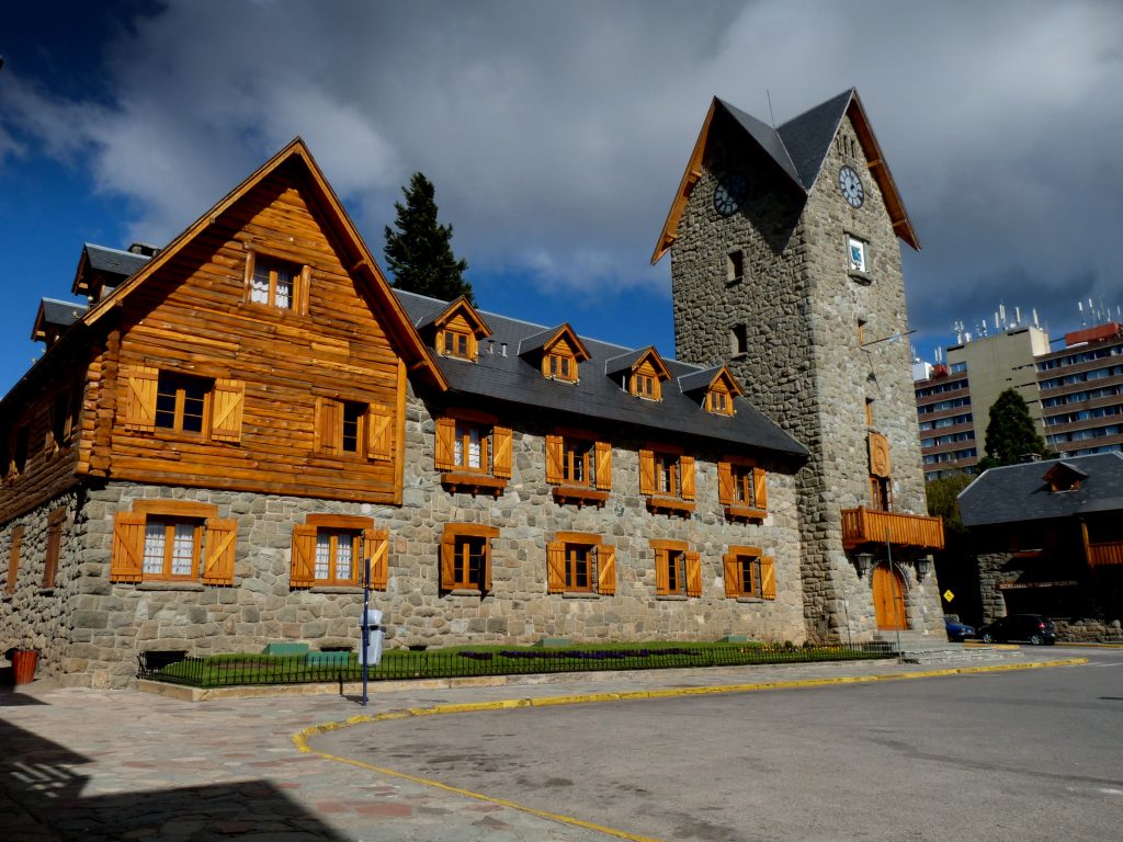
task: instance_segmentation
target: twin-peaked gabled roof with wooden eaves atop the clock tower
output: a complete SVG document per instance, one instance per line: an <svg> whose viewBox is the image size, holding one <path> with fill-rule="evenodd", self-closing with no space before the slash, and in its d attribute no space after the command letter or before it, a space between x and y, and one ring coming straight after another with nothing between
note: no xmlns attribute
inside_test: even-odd
<svg viewBox="0 0 1123 842"><path fill-rule="evenodd" d="M670 203L667 219L659 232L655 251L651 255L652 264L659 262L659 258L667 253L677 237L678 223L686 210L686 201L690 199L694 184L702 176L702 162L710 139L710 131L718 115L731 118L732 122L743 132L746 141L763 149L776 167L805 196L819 179L842 118L849 116L869 164L870 175L882 191L886 210L893 222L893 230L910 246L915 249L920 248L920 240L916 239L909 212L905 210L904 201L897 191L888 164L885 163L885 156L874 136L869 119L866 117L866 110L861 106L858 92L851 88L777 128L773 128L714 97L710 103L710 111L702 123L702 130L694 143L694 149L686 164L686 172L679 181L678 192Z"/></svg>

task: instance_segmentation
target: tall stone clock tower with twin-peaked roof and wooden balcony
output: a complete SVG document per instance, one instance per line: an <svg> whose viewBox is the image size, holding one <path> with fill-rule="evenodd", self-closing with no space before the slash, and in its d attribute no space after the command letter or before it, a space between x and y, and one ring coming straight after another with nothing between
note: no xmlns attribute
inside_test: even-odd
<svg viewBox="0 0 1123 842"><path fill-rule="evenodd" d="M652 256L670 253L678 358L727 363L811 451L796 516L813 640L943 635L901 242L920 248L849 90L775 128L715 98Z"/></svg>

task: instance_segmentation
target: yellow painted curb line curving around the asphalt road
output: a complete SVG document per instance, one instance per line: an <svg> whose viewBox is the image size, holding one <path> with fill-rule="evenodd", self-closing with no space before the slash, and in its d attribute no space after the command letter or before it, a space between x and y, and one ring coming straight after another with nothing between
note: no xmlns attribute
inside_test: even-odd
<svg viewBox="0 0 1123 842"><path fill-rule="evenodd" d="M528 807L522 804L515 804L514 802L509 802L503 798L492 798L491 796L483 795L482 793L473 793L469 789L460 789L458 787L448 786L447 784L441 784L439 780L430 780L429 778L421 778L416 775L409 775L407 772L400 772L393 769L386 769L384 767L374 766L372 763L365 763L362 760L353 760L350 758L338 757L336 754L329 754L323 751L317 751L316 749L313 749L311 745L308 744L308 740L309 738L314 736L317 734L325 734L331 731L338 731L339 729L348 727L349 725L360 725L374 722L390 722L392 720L403 720L403 719L409 719L411 716L440 716L445 714L475 713L480 711L511 711L519 707L550 707L556 705L583 705L596 702L626 702L636 699L674 698L679 696L702 696L702 695L713 695L719 693L751 693L757 690L775 690L775 689L788 689L797 687L827 687L841 684L869 684L873 681L892 681L892 680L911 679L911 678L938 678L941 676L980 675L986 672L1011 672L1015 670L1040 669L1044 667L1071 667L1087 662L1088 662L1087 658L1065 658L1053 661L1034 661L1031 663L995 663L985 667L953 667L948 669L926 669L915 672L889 672L875 676L842 676L838 678L802 678L789 681L758 681L754 684L730 684L730 685L715 685L710 687L677 687L673 689L628 690L623 693L582 693L572 696L545 696L542 698L501 699L495 702L462 702L448 705L435 705L433 707L409 707L401 711L387 711L385 713L378 713L373 715L358 714L356 716L348 717L344 722L326 722L321 725L312 725L310 727L305 727L303 731L299 731L298 733L293 734L292 741L293 744L296 747L298 751L308 754L316 754L317 757L322 758L323 760L332 760L339 763L354 766L359 769L366 769L368 771L377 772L378 775L386 775L393 778L401 778L402 780L409 780L413 784L420 784L422 786L432 787L435 789L440 789L446 793L453 793L454 795L460 795L466 798L473 798L475 800L485 802L487 804L496 804L502 807L517 809L521 813L527 813L532 816L538 816L539 818L547 818L554 822L560 822L562 824L568 824L575 827L583 827L585 830L596 831L597 833L603 833L608 836L629 840L629 842L660 842L660 840L654 839L651 836L639 836L633 833L628 833L627 831L619 831L612 827L604 827L602 825L584 822L573 816L565 816L559 813L548 813L546 811L536 809L533 807Z"/></svg>

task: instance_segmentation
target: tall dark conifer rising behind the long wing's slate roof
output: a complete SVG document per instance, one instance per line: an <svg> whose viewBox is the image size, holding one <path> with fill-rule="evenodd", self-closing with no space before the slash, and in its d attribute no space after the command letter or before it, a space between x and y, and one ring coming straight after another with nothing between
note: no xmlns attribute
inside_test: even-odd
<svg viewBox="0 0 1123 842"><path fill-rule="evenodd" d="M474 304L472 284L464 280L468 264L453 254L453 226L437 221L432 182L413 173L402 195L405 204L394 202L396 230L386 226L383 251L394 273L394 286L444 301L465 295Z"/></svg>

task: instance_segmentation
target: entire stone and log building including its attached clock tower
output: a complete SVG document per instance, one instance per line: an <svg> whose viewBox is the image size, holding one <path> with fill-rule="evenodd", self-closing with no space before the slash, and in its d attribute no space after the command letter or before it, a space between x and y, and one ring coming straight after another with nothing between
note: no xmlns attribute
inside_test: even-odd
<svg viewBox="0 0 1123 842"><path fill-rule="evenodd" d="M366 576L391 646L935 629L932 577L849 560L939 521L907 513L889 340L911 228L857 97L822 108L853 146L813 120L827 175L796 190L715 102L672 212L690 361L391 290L299 139L162 249L88 244L0 402L0 642L86 686L140 652L348 648Z"/></svg>

